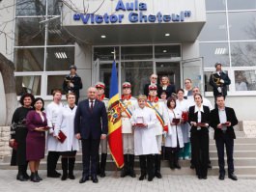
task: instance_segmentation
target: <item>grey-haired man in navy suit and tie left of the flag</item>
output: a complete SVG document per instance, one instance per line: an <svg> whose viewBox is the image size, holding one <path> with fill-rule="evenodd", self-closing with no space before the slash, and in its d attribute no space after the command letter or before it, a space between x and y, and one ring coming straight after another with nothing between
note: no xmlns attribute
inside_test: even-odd
<svg viewBox="0 0 256 192"><path fill-rule="evenodd" d="M83 176L80 183L89 179L90 170L93 182L98 182L97 155L100 139L105 139L108 132L105 105L96 99L97 89L90 87L87 96L88 99L78 103L74 117L74 134L82 140Z"/></svg>

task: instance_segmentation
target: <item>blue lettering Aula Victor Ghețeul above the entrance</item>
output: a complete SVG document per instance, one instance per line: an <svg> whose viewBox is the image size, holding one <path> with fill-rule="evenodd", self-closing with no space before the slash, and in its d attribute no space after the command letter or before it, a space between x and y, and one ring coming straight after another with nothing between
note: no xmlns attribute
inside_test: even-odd
<svg viewBox="0 0 256 192"><path fill-rule="evenodd" d="M161 23L161 22L184 22L185 17L190 17L191 11L181 11L179 14L143 14L147 11L146 3L134 2L124 3L119 0L116 5L116 12L130 12L128 21L130 23ZM101 23L122 23L125 19L125 14L73 14L73 20L82 20L84 24L101 24Z"/></svg>

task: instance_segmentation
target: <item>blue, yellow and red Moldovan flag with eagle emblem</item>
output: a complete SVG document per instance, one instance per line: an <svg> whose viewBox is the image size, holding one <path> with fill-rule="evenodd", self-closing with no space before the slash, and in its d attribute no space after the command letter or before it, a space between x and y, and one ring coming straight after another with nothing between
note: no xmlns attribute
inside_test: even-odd
<svg viewBox="0 0 256 192"><path fill-rule="evenodd" d="M121 108L118 94L116 62L111 71L110 94L108 102L108 145L118 168L124 166Z"/></svg>

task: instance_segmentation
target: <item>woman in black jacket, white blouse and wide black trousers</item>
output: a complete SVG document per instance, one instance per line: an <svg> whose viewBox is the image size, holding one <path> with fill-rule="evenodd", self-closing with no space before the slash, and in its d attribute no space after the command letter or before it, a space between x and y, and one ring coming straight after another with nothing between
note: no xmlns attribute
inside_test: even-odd
<svg viewBox="0 0 256 192"><path fill-rule="evenodd" d="M203 105L203 97L194 95L195 105L189 107L188 122L191 124L191 148L196 175L199 179L207 179L209 159L209 123L210 109Z"/></svg>

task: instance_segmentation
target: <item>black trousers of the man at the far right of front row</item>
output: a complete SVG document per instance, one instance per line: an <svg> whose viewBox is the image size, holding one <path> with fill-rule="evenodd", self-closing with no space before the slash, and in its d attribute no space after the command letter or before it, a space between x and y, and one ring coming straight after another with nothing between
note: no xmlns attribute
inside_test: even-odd
<svg viewBox="0 0 256 192"><path fill-rule="evenodd" d="M226 146L228 174L234 173L234 139L230 138L226 133L215 139L218 157L219 174L225 174L224 146Z"/></svg>

